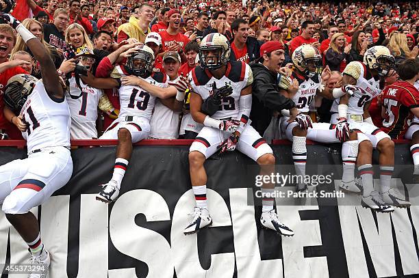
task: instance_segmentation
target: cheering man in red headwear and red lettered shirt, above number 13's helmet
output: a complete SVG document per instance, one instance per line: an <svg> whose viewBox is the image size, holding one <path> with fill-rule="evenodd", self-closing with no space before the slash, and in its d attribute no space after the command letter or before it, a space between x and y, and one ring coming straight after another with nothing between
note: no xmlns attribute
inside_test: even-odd
<svg viewBox="0 0 419 278"><path fill-rule="evenodd" d="M167 13L168 16L168 28L167 30L161 31L160 36L162 37L162 48L164 53L167 51L175 51L181 55L182 61L185 60L185 46L189 42L187 36L179 33L179 26L181 21L181 15L179 10L171 9ZM160 56L163 57L164 53Z"/></svg>

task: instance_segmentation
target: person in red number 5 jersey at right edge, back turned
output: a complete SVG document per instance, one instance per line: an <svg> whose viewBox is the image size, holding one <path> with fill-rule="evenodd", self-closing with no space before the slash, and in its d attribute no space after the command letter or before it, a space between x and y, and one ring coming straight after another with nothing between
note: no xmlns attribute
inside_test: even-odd
<svg viewBox="0 0 419 278"><path fill-rule="evenodd" d="M418 79L418 62L407 59L400 64L397 81L383 90L383 130L392 139L404 139L409 122L419 117L419 91L414 87Z"/></svg>

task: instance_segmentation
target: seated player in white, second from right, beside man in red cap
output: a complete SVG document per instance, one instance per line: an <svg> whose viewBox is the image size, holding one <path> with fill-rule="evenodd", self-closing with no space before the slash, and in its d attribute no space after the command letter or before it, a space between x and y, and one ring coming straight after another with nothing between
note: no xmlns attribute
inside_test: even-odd
<svg viewBox="0 0 419 278"><path fill-rule="evenodd" d="M332 90L326 86L331 71L327 67L321 72L322 57L316 47L310 44L299 46L292 53L292 62L295 68L292 79L299 81L299 90L294 96L289 96L283 90L281 93L294 100L300 113L296 120L290 123L288 121L289 112L282 111L284 117L281 120L281 130L292 141L292 158L296 174L302 177L296 185L296 191L307 189L307 184L304 182L307 161L306 139L322 143L342 141L343 176L340 186L344 189L353 189L356 187L354 168L358 151L357 134L349 132L346 122L340 122L333 126L326 123L312 123L308 115L309 105L313 102L314 96L319 95L329 99L340 98L346 94L346 90Z"/></svg>

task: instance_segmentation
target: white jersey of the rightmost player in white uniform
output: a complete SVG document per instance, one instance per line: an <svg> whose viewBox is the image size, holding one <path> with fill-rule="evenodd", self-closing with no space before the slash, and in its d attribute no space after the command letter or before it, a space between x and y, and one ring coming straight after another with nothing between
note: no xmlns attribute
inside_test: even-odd
<svg viewBox="0 0 419 278"><path fill-rule="evenodd" d="M381 93L380 79L377 80L371 76L368 68L360 61L352 61L344 69L344 74L351 75L357 80L359 91L355 92L348 103L348 114L361 115L364 113L364 105ZM336 99L332 105L332 112L338 112L339 99Z"/></svg>

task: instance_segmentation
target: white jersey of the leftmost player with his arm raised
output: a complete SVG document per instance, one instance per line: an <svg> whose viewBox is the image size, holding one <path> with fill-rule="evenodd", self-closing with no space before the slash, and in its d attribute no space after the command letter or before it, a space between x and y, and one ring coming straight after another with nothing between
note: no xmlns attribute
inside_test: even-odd
<svg viewBox="0 0 419 278"><path fill-rule="evenodd" d="M27 123L22 133L27 141L27 152L47 147L70 146L70 109L66 98L52 100L38 81L27 97L21 115Z"/></svg>

